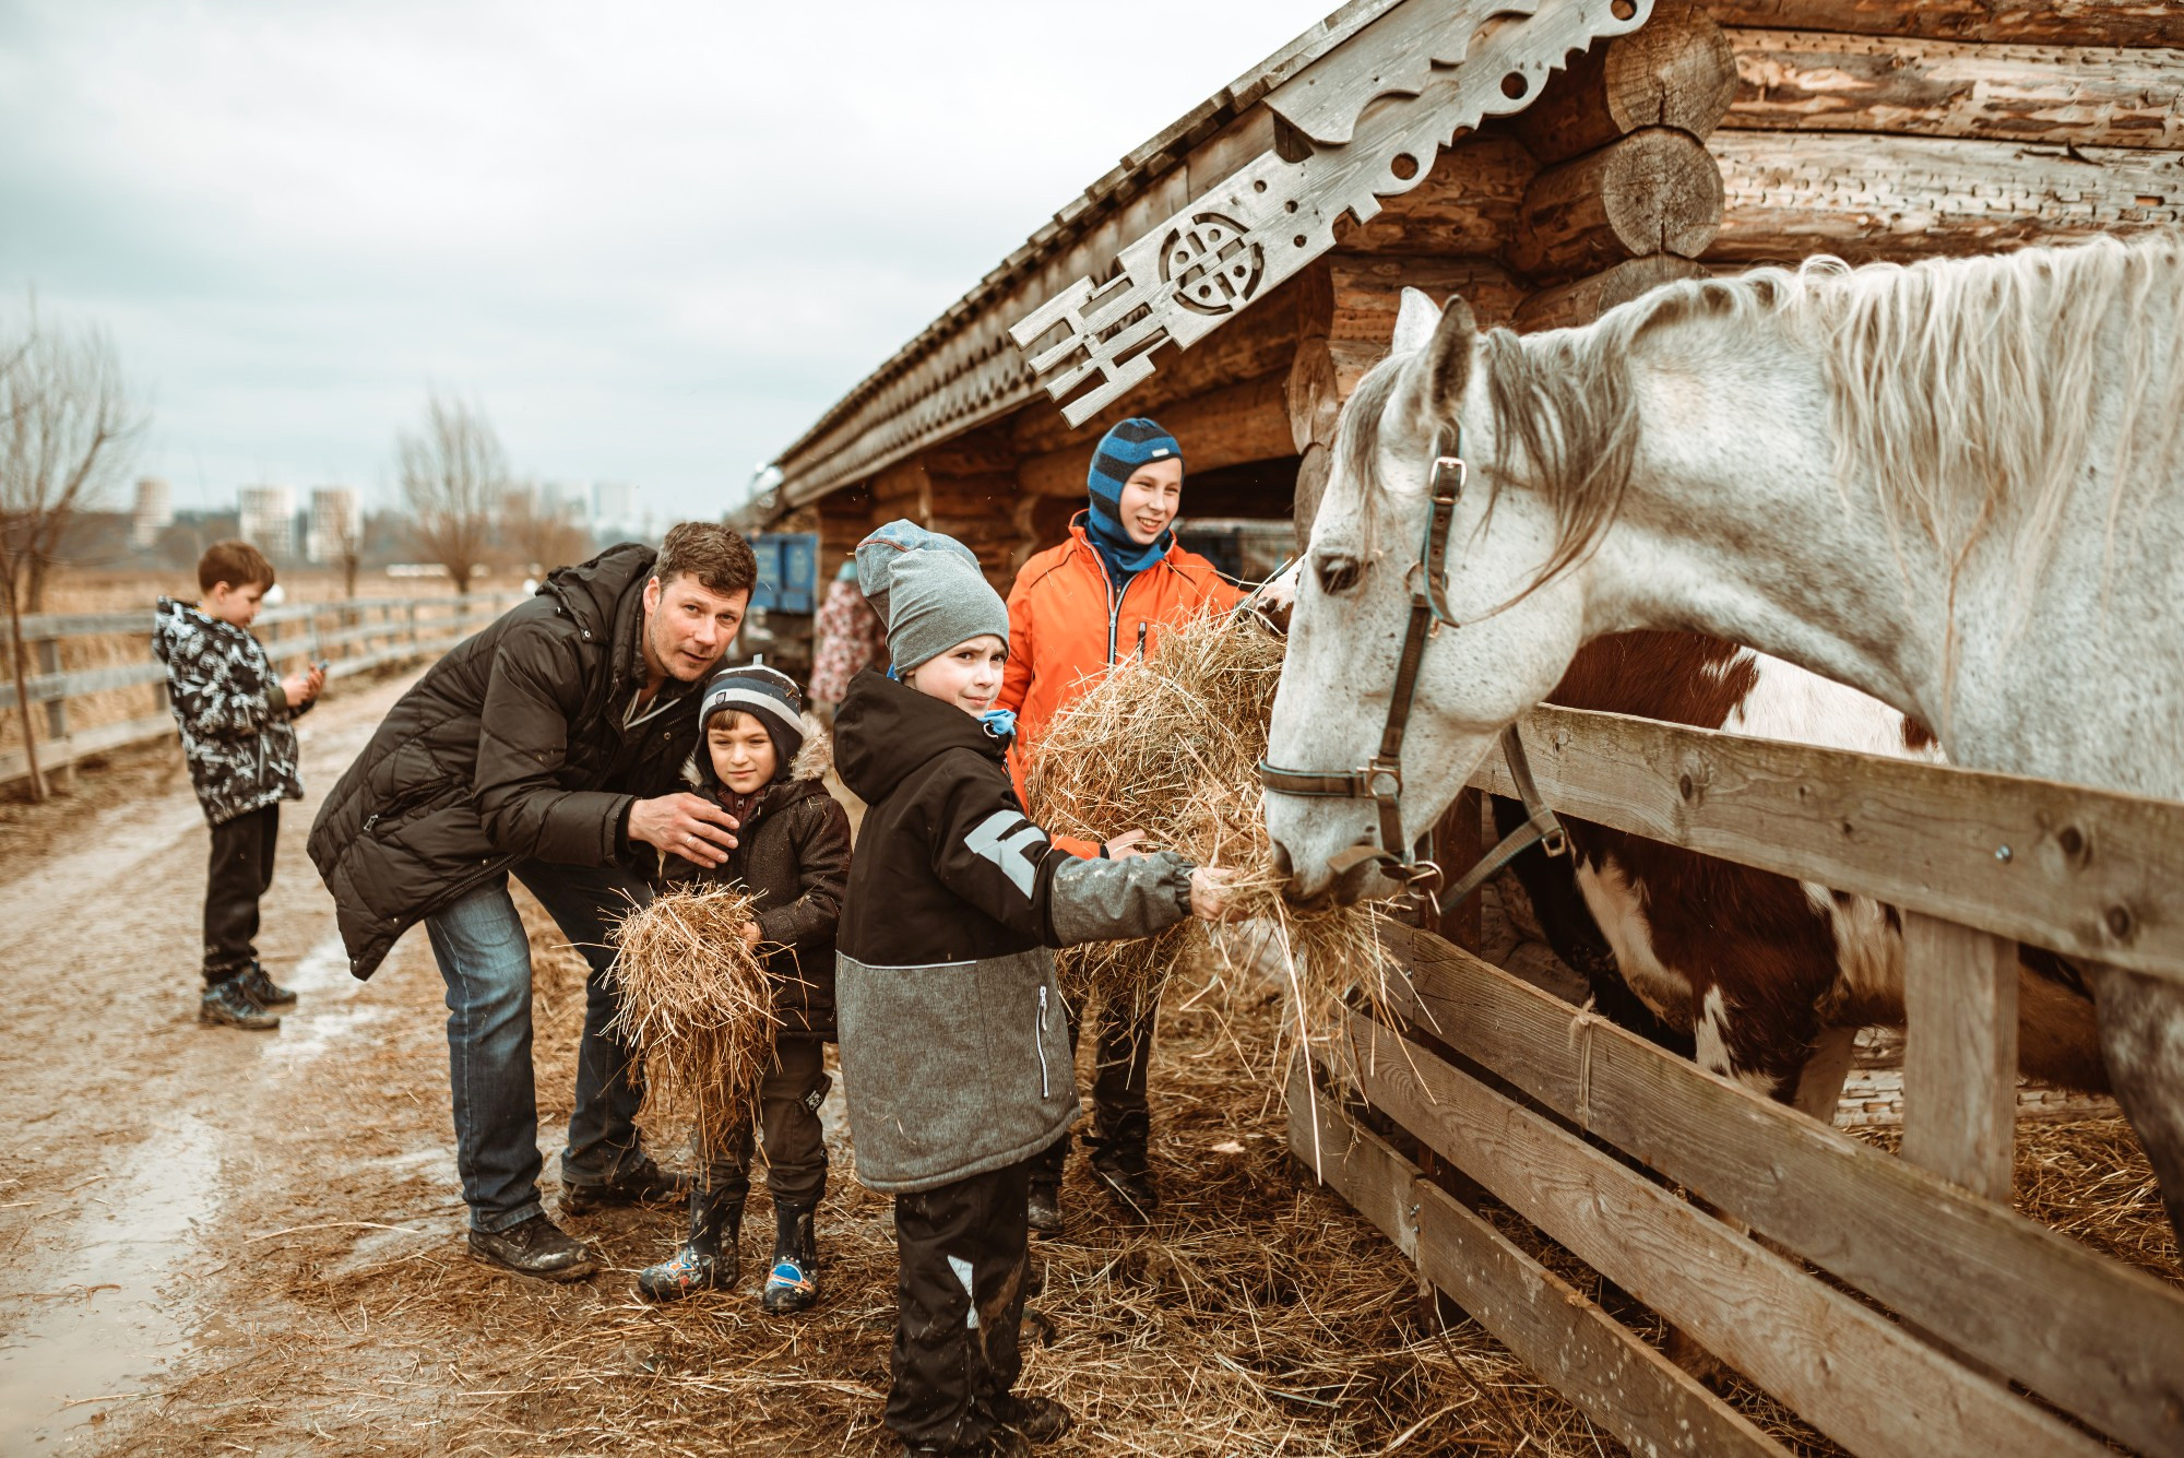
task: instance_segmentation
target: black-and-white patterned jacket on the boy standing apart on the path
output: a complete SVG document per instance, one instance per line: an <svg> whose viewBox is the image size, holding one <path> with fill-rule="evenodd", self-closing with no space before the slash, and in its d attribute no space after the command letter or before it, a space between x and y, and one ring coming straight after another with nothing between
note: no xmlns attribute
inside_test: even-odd
<svg viewBox="0 0 2184 1458"><path fill-rule="evenodd" d="M159 598L151 650L166 664L166 698L181 725L181 753L205 821L284 799L304 799L290 705L280 674L249 629L207 618L188 602Z"/></svg>

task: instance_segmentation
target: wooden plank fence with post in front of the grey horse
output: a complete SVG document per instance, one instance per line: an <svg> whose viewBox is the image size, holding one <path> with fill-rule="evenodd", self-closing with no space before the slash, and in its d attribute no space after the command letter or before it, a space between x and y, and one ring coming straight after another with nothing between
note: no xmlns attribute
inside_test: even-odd
<svg viewBox="0 0 2184 1458"><path fill-rule="evenodd" d="M1299 1067L1297 1159L1634 1451L1780 1449L1330 1087L1850 1451L2110 1451L2060 1410L2184 1454L2184 1292L2009 1207L2014 943L2184 980L2184 805L1614 714L1524 738L1568 816L1904 910L1902 1155L1385 921L1402 976Z"/></svg>

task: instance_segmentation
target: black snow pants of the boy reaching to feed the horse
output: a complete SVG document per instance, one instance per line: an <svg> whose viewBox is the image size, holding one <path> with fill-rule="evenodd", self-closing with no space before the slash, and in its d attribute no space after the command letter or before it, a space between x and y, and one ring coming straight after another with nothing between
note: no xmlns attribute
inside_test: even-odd
<svg viewBox="0 0 2184 1458"><path fill-rule="evenodd" d="M1031 1166L895 1196L895 1351L887 1425L904 1443L968 1447L1024 1371Z"/></svg>

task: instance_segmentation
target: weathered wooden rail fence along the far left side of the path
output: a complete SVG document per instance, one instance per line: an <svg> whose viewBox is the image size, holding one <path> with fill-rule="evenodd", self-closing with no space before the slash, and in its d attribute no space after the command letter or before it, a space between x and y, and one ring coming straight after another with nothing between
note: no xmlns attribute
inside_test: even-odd
<svg viewBox="0 0 2184 1458"><path fill-rule="evenodd" d="M509 600L498 596L295 602L258 613L251 631L275 664L325 657L328 677L343 679L452 648L507 609ZM37 742L37 762L44 770L175 733L175 716L166 707L166 666L151 657L151 613L35 613L22 620L22 635L37 664L24 690L33 705L46 709ZM81 637L138 640L144 646L144 661L68 670L61 666L61 642ZM70 701L127 688L151 688L153 712L100 725L70 725ZM15 685L0 683L0 714L13 716L15 707ZM0 753L0 784L28 773L22 749Z"/></svg>

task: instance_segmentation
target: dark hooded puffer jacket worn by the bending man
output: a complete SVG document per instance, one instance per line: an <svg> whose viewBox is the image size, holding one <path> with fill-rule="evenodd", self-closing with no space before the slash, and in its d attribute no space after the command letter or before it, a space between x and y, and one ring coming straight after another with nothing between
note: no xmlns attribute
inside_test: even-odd
<svg viewBox="0 0 2184 1458"><path fill-rule="evenodd" d="M677 788L697 688L668 679L636 709L651 574L633 541L555 567L373 731L310 827L352 973L520 860L616 862L629 805Z"/></svg>

